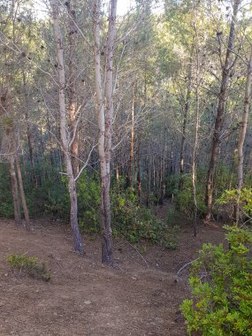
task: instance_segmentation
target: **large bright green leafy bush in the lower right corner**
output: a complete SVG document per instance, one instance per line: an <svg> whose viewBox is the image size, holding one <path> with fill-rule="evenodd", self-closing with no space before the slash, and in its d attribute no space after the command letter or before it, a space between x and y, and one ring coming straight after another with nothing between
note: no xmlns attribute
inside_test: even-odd
<svg viewBox="0 0 252 336"><path fill-rule="evenodd" d="M237 226L225 229L230 248L204 244L193 263L192 299L181 306L189 334L252 335L252 233Z"/></svg>

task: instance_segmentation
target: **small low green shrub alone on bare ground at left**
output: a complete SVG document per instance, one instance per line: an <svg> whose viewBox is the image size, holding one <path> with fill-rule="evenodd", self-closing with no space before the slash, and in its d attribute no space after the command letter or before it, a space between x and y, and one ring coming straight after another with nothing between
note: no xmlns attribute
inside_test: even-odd
<svg viewBox="0 0 252 336"><path fill-rule="evenodd" d="M32 278L44 281L50 281L51 279L50 273L46 270L45 263L39 264L36 256L10 255L7 258L7 263L13 269L18 269Z"/></svg>

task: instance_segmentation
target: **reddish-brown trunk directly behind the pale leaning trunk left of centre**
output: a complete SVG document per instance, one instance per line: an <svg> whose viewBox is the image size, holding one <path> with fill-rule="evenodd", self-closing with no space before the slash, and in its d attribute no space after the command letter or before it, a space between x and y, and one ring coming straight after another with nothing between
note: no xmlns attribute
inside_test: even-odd
<svg viewBox="0 0 252 336"><path fill-rule="evenodd" d="M68 96L69 96L69 105L68 105L68 114L70 121L70 132L73 136L73 143L71 146L71 160L73 166L73 176L76 177L80 171L79 167L79 132L77 126L77 95L76 95L76 57L74 57L77 44L77 25L76 25L76 12L73 10L71 0L68 0L66 3L68 15L69 15L69 83L68 83ZM77 127L77 129L75 129Z"/></svg>

